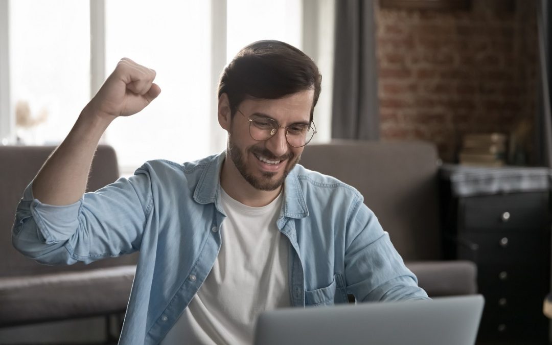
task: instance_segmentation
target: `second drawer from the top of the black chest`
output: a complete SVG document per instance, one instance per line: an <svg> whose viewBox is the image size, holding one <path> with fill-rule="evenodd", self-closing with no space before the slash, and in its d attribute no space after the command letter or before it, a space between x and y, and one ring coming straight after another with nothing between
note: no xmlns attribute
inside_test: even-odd
<svg viewBox="0 0 552 345"><path fill-rule="evenodd" d="M478 265L550 262L549 232L470 232L458 237L458 258Z"/></svg>

